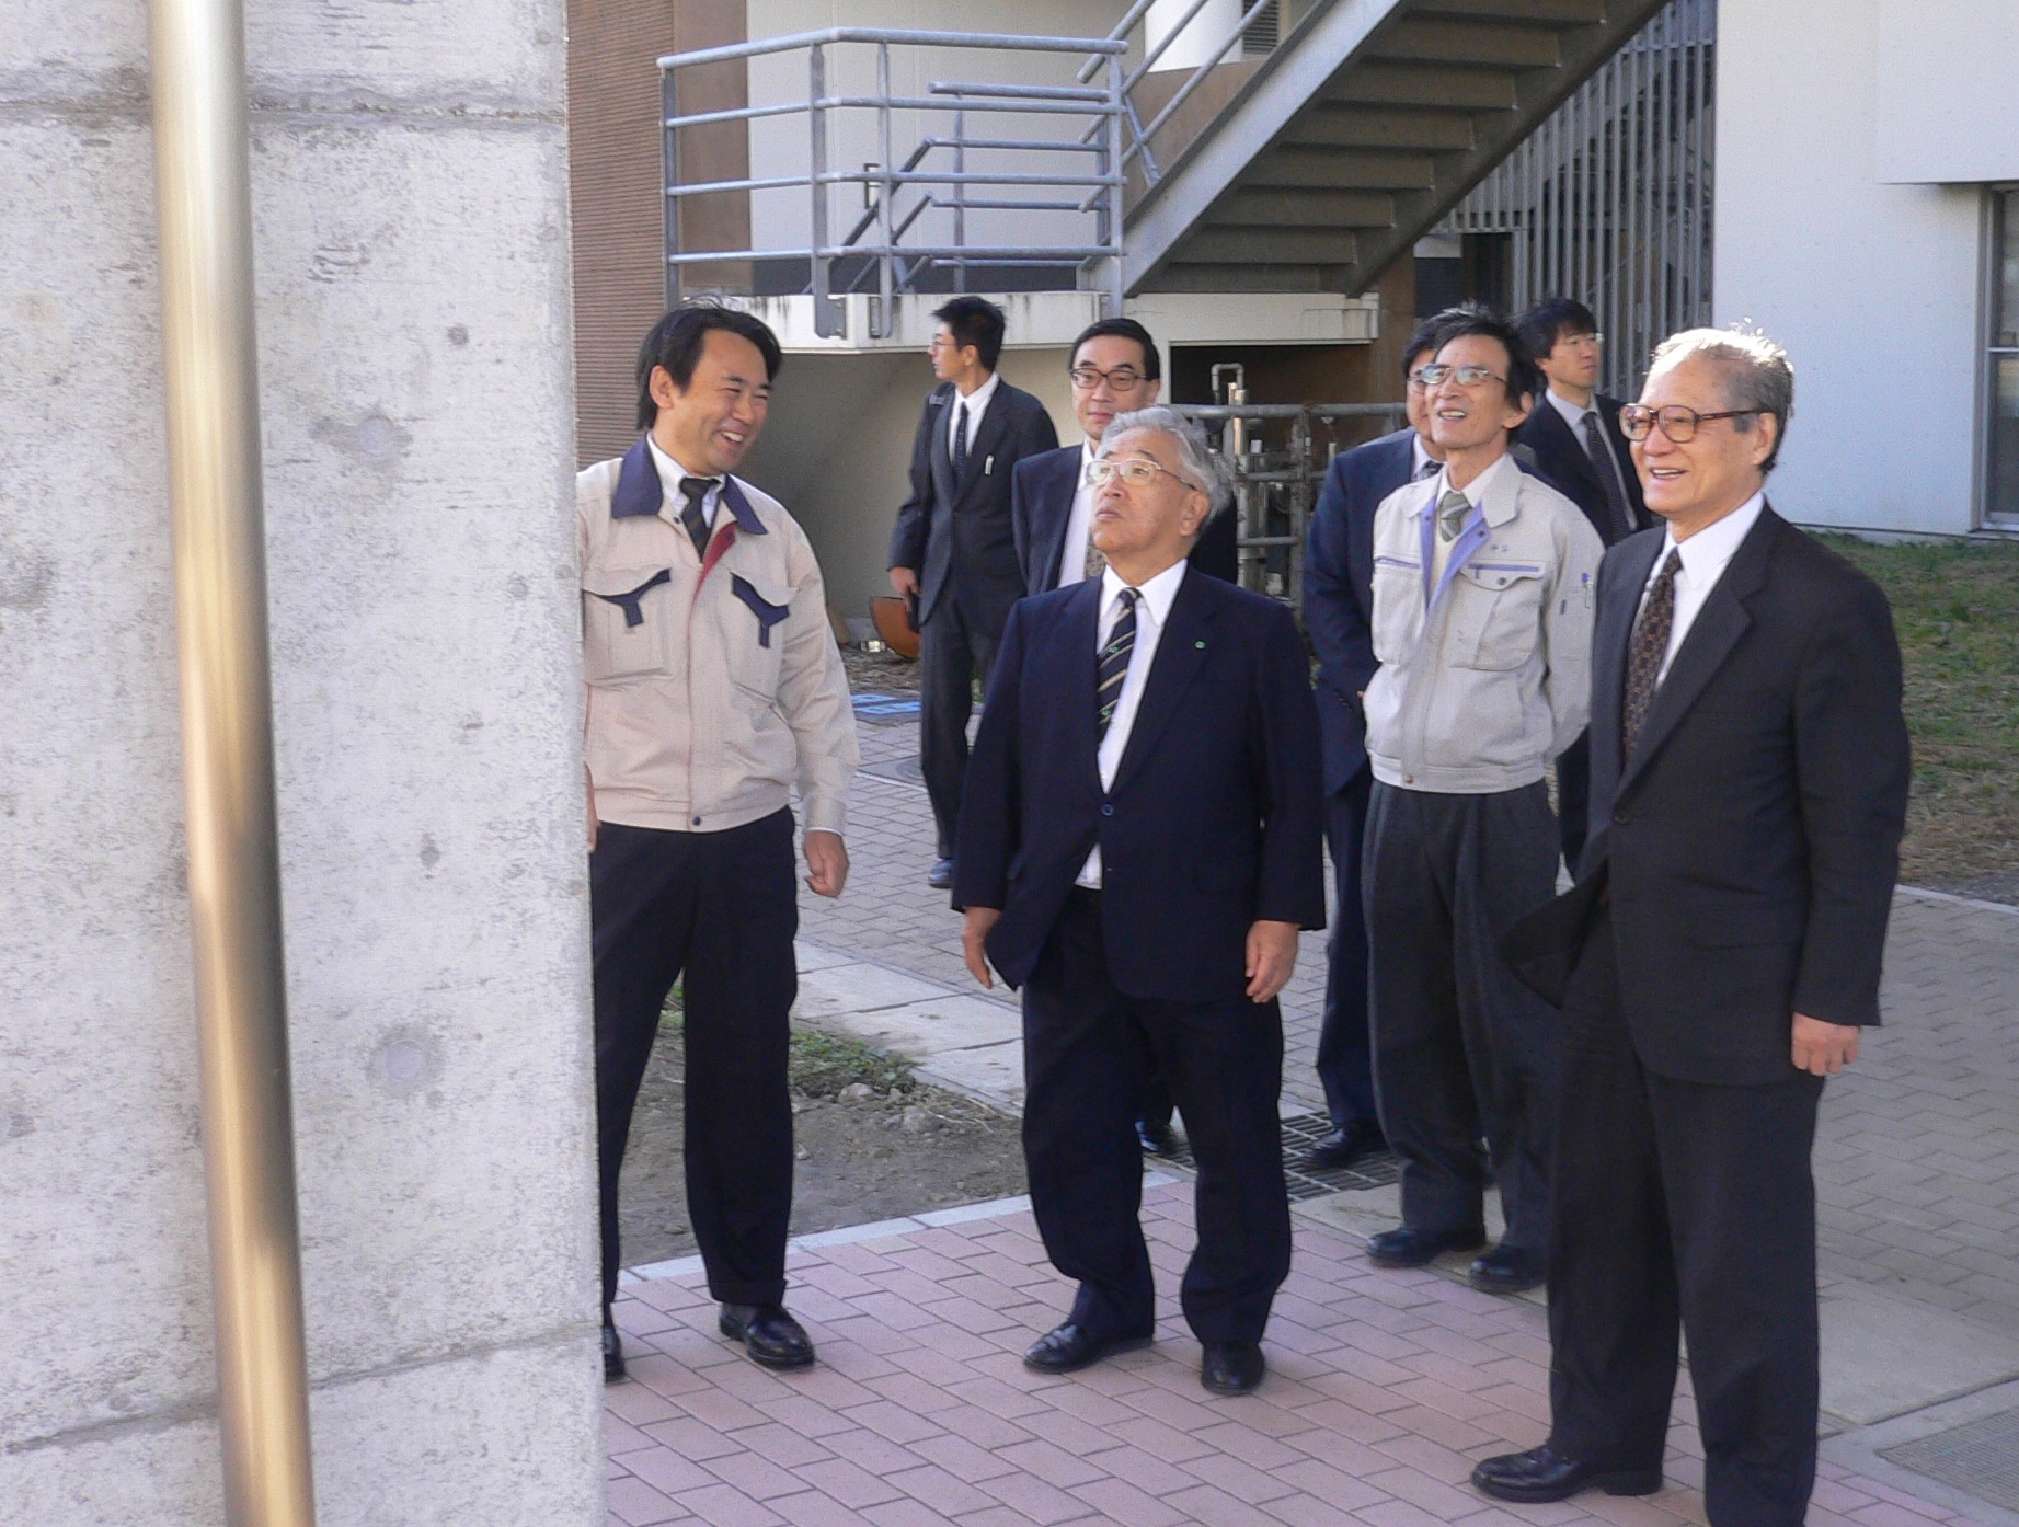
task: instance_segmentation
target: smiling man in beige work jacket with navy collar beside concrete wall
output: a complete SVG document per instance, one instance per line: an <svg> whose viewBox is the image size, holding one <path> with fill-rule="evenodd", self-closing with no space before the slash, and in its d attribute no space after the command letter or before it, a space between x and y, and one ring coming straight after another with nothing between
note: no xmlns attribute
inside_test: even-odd
<svg viewBox="0 0 2019 1527"><path fill-rule="evenodd" d="M638 351L638 428L581 473L583 753L596 959L604 1376L624 1376L618 1176L658 1016L686 978L686 1210L723 1335L769 1367L814 1345L785 1313L798 992L793 786L806 883L848 881L856 727L806 531L731 473L771 406L777 339L690 305Z"/></svg>

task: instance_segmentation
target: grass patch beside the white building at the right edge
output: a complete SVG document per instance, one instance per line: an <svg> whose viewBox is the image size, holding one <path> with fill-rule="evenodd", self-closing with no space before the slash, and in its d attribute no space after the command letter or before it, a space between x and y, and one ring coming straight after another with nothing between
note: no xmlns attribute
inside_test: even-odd
<svg viewBox="0 0 2019 1527"><path fill-rule="evenodd" d="M1914 739L1900 877L2019 873L2019 545L1825 543L1892 600Z"/></svg>

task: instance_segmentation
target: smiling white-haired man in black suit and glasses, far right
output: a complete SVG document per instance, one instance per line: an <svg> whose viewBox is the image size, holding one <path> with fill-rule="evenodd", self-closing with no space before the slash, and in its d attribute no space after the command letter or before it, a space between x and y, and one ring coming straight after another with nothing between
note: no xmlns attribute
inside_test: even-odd
<svg viewBox="0 0 2019 1527"><path fill-rule="evenodd" d="M1599 574L1591 842L1502 945L1565 1022L1551 1434L1504 1501L1662 1485L1678 1327L1714 1527L1815 1481L1823 1079L1880 1020L1908 739L1886 596L1765 499L1787 353L1694 329L1625 412L1668 521Z"/></svg>

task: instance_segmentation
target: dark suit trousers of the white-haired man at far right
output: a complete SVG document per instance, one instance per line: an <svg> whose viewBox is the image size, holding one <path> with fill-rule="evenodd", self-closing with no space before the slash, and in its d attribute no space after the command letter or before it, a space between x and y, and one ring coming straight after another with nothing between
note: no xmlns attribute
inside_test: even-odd
<svg viewBox="0 0 2019 1527"><path fill-rule="evenodd" d="M1639 1064L1611 917L1565 994L1549 1258L1551 1444L1662 1462L1678 1331L1714 1527L1799 1527L1815 1483L1821 1077L1718 1087Z"/></svg>

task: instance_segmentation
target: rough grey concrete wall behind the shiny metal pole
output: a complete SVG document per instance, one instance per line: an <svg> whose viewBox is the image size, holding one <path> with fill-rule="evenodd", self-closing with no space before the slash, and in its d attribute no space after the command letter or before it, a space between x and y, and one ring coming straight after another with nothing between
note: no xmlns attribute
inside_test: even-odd
<svg viewBox="0 0 2019 1527"><path fill-rule="evenodd" d="M139 0L0 28L0 1519L220 1519ZM561 0L248 16L321 1521L600 1523Z"/></svg>

